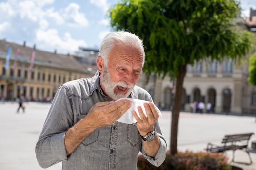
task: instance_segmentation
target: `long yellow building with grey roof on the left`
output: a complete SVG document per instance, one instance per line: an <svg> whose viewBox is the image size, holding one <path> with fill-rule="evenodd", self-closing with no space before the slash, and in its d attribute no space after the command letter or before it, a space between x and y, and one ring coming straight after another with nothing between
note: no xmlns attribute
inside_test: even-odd
<svg viewBox="0 0 256 170"><path fill-rule="evenodd" d="M9 69L5 70L6 51L12 47ZM16 50L19 55L16 56ZM35 51L31 71L30 56ZM14 68L14 62L16 67ZM93 73L92 73L93 74ZM49 101L63 83L91 77L86 65L80 64L71 55L46 52L0 40L0 94L7 100L15 99L20 93L28 100Z"/></svg>

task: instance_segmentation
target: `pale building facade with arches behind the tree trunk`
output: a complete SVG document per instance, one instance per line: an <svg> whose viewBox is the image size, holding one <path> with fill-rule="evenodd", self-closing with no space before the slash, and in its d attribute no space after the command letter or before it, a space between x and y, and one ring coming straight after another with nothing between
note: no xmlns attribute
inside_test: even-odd
<svg viewBox="0 0 256 170"><path fill-rule="evenodd" d="M189 65L184 79L181 108L191 111L190 104L196 101L205 105L211 103L213 113L256 113L256 87L248 84L247 77L246 62L238 64L226 59L222 63L202 61L194 66ZM154 78L152 75L144 88L152 94L158 107L172 109L175 80L169 77Z"/></svg>

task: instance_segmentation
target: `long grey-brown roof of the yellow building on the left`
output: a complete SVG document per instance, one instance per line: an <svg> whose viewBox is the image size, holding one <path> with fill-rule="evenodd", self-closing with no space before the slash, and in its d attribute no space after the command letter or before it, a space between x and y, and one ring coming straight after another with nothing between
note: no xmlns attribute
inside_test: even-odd
<svg viewBox="0 0 256 170"><path fill-rule="evenodd" d="M33 49L30 47L22 46L15 43L10 43L5 40L0 40L0 52L1 54L6 55L6 51L8 46L12 47L12 56L14 57L16 49L20 49L20 55L24 62L30 62L30 56L32 51L35 51L35 61L34 64L48 66L53 68L59 68L64 70L71 70L77 72L87 73L87 67L81 63L79 63L74 56L72 55L64 55L64 54L56 54L47 51L41 51L37 49ZM2 56L0 54L0 57ZM25 56L25 57L24 57ZM5 56L4 56L5 57ZM21 59L18 59L21 61Z"/></svg>

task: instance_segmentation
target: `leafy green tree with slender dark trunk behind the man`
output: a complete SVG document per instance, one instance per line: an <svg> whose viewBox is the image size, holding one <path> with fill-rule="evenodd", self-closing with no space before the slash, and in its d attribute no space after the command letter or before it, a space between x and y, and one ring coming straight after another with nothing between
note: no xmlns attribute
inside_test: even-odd
<svg viewBox="0 0 256 170"><path fill-rule="evenodd" d="M128 29L146 46L146 73L176 78L171 120L171 154L177 153L182 87L188 64L202 59L241 58L249 48L247 34L236 33L234 0L120 0L110 9L114 30Z"/></svg>

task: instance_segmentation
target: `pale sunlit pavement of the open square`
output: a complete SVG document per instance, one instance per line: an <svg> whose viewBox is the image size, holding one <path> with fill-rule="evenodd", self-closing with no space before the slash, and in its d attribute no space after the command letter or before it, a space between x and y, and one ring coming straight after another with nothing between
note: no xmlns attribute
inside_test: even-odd
<svg viewBox="0 0 256 170"><path fill-rule="evenodd" d="M26 103L26 111L17 114L17 103L0 103L0 170L42 170L36 160L35 144L47 116L50 104ZM159 123L163 135L170 143L171 112L163 111ZM254 117L215 114L180 114L178 149L180 151L203 151L208 142L220 144L225 134L254 132ZM250 142L251 146L251 142ZM227 152L229 158L232 152ZM248 155L236 151L235 161L244 170L256 170L256 151L251 150L253 164L248 165ZM61 163L47 170L61 170Z"/></svg>

